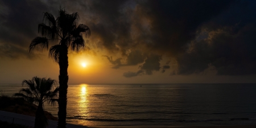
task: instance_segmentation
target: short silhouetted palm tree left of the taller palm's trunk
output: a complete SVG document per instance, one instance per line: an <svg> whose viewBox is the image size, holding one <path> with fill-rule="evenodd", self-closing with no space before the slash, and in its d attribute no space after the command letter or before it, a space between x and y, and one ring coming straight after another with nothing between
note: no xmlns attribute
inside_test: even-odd
<svg viewBox="0 0 256 128"><path fill-rule="evenodd" d="M38 104L35 114L35 128L43 128L48 125L46 115L44 115L43 105L44 102L55 105L59 92L59 87L53 89L55 82L55 80L50 78L41 79L39 77L33 77L32 80L23 80L22 86L26 85L27 88L22 88L19 93L13 95L15 97L22 97L28 102Z"/></svg>

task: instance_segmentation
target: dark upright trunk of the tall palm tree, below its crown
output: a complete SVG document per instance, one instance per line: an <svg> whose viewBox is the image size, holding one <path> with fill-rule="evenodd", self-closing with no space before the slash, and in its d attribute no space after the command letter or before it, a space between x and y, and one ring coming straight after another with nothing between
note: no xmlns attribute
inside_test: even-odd
<svg viewBox="0 0 256 128"><path fill-rule="evenodd" d="M58 112L58 127L66 127L66 116L67 116L67 93L68 93L68 48L61 44L61 51L59 56L59 112Z"/></svg>

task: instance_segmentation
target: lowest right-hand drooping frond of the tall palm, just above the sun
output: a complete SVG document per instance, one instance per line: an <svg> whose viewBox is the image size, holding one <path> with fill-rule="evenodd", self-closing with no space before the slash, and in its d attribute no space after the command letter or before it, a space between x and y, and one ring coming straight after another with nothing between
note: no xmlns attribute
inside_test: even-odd
<svg viewBox="0 0 256 128"><path fill-rule="evenodd" d="M71 43L71 50L79 52L85 48L85 42L81 35L77 36Z"/></svg>

